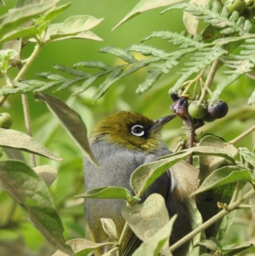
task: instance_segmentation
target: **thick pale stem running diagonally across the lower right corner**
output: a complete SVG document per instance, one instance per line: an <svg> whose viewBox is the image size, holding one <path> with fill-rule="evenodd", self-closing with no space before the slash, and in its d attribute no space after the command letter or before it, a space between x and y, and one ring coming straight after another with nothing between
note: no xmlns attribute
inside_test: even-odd
<svg viewBox="0 0 255 256"><path fill-rule="evenodd" d="M190 232L189 234L187 234L187 236L182 237L182 239L180 239L177 243L175 243L174 245L171 245L169 248L170 251L173 252L180 246L184 245L189 240L191 240L194 236L196 236L196 234L201 232L201 230L205 230L208 227L210 227L210 225L214 224L218 220L221 220L221 218L223 218L225 215L227 215L230 211L238 209L238 206L240 206L240 204L242 204L242 202L244 202L246 199L249 199L249 197L251 197L251 195L254 195L254 194L255 194L255 191L252 189L249 192L247 192L241 199L229 204L227 209L222 209L222 211L217 213L217 215L214 215L212 218L210 218L210 220L207 220L207 222L203 223L200 227L198 227L197 229L195 229L192 232Z"/></svg>

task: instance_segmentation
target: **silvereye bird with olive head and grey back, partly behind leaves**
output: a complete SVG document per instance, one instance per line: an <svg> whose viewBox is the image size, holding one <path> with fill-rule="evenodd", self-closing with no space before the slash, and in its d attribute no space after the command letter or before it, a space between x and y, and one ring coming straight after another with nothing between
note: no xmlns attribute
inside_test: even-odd
<svg viewBox="0 0 255 256"><path fill-rule="evenodd" d="M101 168L98 169L85 159L85 191L100 186L122 186L131 192L129 179L134 170L143 163L156 161L160 156L171 154L163 140L160 130L175 115L162 117L155 121L136 112L117 112L106 116L92 130L90 143ZM191 203L189 195L196 189L197 172L184 161L175 164L159 177L143 193L144 201L152 193L164 197L170 216L177 213L170 244L191 232ZM121 215L126 203L113 199L85 199L85 218L92 241L104 243L111 241L101 225L100 218L110 218L120 235L125 220ZM122 255L130 256L142 243L130 230L122 245ZM181 246L174 256L187 254L189 244ZM101 255L108 248L96 253Z"/></svg>

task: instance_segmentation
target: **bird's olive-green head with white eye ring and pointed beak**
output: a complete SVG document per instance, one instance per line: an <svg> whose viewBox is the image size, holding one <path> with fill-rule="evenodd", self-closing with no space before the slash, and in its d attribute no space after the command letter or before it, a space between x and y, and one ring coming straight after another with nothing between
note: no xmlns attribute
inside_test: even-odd
<svg viewBox="0 0 255 256"><path fill-rule="evenodd" d="M173 117L175 115L153 121L136 112L117 112L99 121L91 138L150 153L162 146L160 130Z"/></svg>

